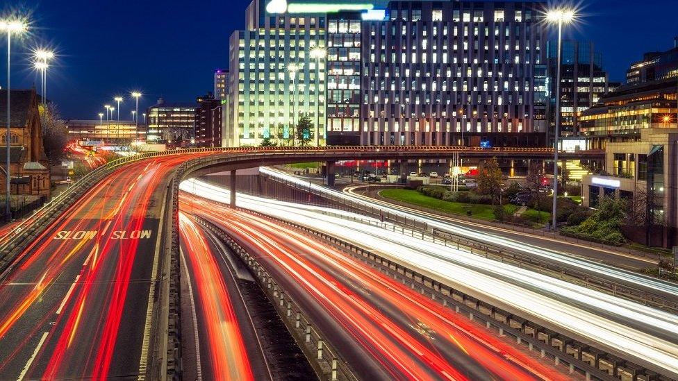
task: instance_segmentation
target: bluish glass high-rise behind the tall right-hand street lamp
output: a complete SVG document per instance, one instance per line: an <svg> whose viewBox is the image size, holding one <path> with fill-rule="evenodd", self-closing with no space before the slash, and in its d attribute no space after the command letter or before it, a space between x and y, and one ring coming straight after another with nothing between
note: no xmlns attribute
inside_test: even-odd
<svg viewBox="0 0 678 381"><path fill-rule="evenodd" d="M549 124L556 125L556 73L558 42L547 43L549 62ZM561 55L561 136L579 134L578 115L597 104L604 94L619 87L610 84L603 70L602 54L593 43L563 40ZM612 89L610 89L612 85Z"/></svg>

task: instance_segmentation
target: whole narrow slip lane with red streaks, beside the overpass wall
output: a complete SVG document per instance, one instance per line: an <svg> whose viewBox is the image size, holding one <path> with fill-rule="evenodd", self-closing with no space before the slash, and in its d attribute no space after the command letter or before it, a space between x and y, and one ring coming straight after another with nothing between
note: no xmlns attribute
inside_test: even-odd
<svg viewBox="0 0 678 381"><path fill-rule="evenodd" d="M240 295L237 276L217 240L184 212L179 214L184 275L195 309L199 364L203 380L271 380L254 323ZM188 339L188 337L186 338ZM184 358L187 363L192 359Z"/></svg>

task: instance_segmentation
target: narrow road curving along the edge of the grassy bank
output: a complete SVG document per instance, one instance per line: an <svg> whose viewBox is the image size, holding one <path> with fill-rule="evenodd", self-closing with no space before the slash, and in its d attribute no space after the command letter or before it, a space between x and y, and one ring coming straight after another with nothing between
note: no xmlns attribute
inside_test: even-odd
<svg viewBox="0 0 678 381"><path fill-rule="evenodd" d="M457 219L454 216L450 216L449 214L442 215L433 212L424 212L423 210L417 210L415 208L408 208L404 205L389 202L388 200L384 200L383 198L375 198L374 194L364 194L363 191L366 188L367 186L365 185L354 185L342 189L342 192L350 194L351 196L354 196L355 198L359 198L364 201L370 201L372 203L378 203L380 205L388 206L389 208L394 208L397 210L402 210L404 212L417 214L432 219L437 219L438 221L444 221L446 223L454 223L458 226L472 228L480 232L486 232L487 234L497 235L499 237L504 237L506 239L518 240L525 244L538 246L540 248L547 248L549 250L557 251L560 253L568 253L569 255L588 258L590 260L595 260L598 262L603 262L614 266L622 266L624 268L631 270L646 269L647 267L656 266L657 264L657 260L654 258L641 257L639 255L633 255L629 253L621 253L620 251L612 251L605 248L595 248L591 246L586 246L584 244L568 242L565 241L564 239L534 235L530 234L529 232L517 232L509 228L499 228L497 226L490 226L484 223L464 221L462 219Z"/></svg>

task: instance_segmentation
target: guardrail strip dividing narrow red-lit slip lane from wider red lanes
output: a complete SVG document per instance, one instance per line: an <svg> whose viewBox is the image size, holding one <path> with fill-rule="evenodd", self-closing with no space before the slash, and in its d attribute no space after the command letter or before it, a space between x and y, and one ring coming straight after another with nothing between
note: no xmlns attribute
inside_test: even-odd
<svg viewBox="0 0 678 381"><path fill-rule="evenodd" d="M281 320L290 331L290 334L297 341L297 345L306 355L318 378L331 381L358 380L349 364L333 348L331 341L325 339L325 335L316 328L317 325L308 318L308 314L299 307L294 298L283 287L278 285L264 267L256 262L253 255L242 248L229 233L217 228L217 226L205 219L197 216L193 217L198 223L219 237L245 263L249 271L255 276L254 278L259 287L271 301Z"/></svg>

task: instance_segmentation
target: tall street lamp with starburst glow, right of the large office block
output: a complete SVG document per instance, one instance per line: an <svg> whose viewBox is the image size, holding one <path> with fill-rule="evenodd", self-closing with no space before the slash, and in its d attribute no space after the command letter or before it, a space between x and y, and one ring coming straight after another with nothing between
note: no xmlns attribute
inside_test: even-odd
<svg viewBox="0 0 678 381"><path fill-rule="evenodd" d="M556 217L558 206L558 139L560 135L561 124L561 54L563 53L563 24L570 24L574 21L574 10L559 8L549 10L546 13L547 22L558 24L558 62L556 63L556 131L553 139L553 208L552 227L556 229ZM563 168L563 171L565 169Z"/></svg>

